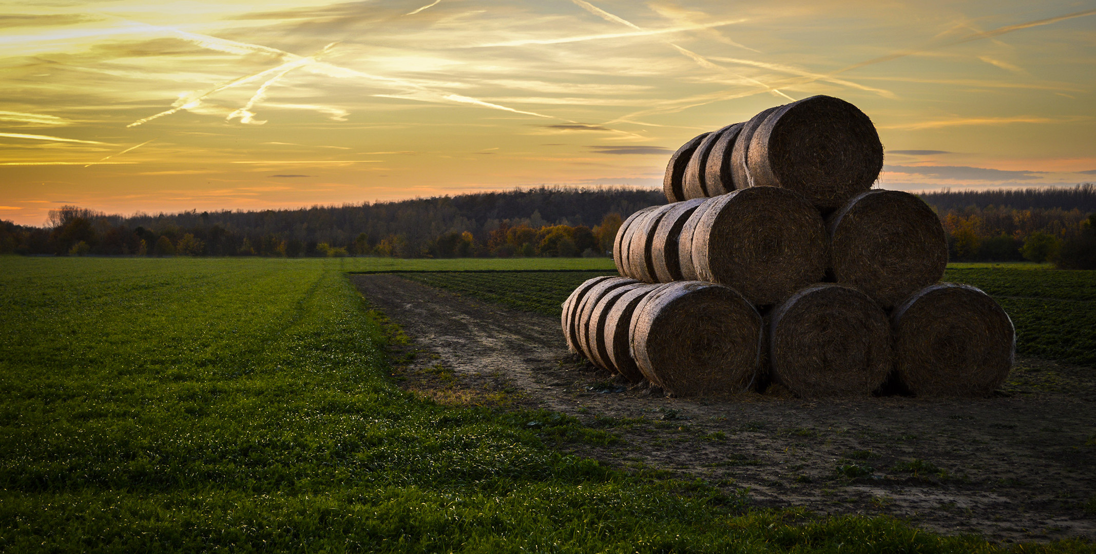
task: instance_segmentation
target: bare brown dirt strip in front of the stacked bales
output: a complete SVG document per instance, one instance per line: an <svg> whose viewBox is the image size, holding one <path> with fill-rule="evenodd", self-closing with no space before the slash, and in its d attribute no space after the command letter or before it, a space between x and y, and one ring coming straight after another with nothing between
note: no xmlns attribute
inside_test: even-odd
<svg viewBox="0 0 1096 554"><path fill-rule="evenodd" d="M761 507L891 515L995 541L1096 539L1096 372L1017 360L992 399L670 399L567 351L558 319L392 275L352 281L409 339L407 389L449 404L547 408L619 437L569 452L747 489Z"/></svg>

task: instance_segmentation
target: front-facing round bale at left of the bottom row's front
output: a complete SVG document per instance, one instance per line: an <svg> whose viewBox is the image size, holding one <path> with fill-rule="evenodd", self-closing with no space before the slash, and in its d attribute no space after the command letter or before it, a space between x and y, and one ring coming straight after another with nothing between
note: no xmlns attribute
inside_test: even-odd
<svg viewBox="0 0 1096 554"><path fill-rule="evenodd" d="M632 314L632 356L643 376L675 396L750 390L762 361L762 318L721 285L676 281Z"/></svg>

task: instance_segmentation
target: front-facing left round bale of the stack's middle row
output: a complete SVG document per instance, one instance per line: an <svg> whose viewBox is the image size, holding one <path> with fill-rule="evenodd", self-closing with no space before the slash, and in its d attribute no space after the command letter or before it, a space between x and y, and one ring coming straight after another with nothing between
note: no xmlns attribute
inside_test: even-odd
<svg viewBox="0 0 1096 554"><path fill-rule="evenodd" d="M822 216L786 188L740 188L713 198L693 233L699 279L733 287L754 304L780 302L821 281L827 263Z"/></svg>

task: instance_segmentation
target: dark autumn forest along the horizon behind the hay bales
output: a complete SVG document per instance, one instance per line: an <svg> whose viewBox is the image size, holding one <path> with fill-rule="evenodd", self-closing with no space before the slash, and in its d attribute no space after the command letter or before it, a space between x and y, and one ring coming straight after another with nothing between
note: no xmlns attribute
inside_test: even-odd
<svg viewBox="0 0 1096 554"><path fill-rule="evenodd" d="M954 261L1096 268L1096 187L927 193ZM398 257L604 256L659 189L539 187L261 211L118 216L66 206L45 227L0 222L0 253ZM1077 257L1080 256L1080 257ZM1087 256L1087 257L1085 257ZM1082 259L1077 262L1077 259ZM1084 262L1089 259L1091 262Z"/></svg>

